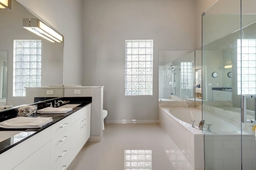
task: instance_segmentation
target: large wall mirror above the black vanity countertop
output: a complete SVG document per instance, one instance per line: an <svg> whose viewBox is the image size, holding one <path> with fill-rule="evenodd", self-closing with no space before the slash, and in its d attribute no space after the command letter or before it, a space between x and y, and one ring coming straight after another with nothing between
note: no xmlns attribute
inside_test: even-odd
<svg viewBox="0 0 256 170"><path fill-rule="evenodd" d="M64 43L52 43L46 39L43 39L42 37L39 37L38 35L35 35L34 33L31 33L30 31L24 29L22 27L23 25L23 18L36 18L34 14L32 14L30 11L28 11L26 8L24 8L22 5L20 5L15 0L12 0L12 10L10 11L0 11L0 105L12 105L12 106L19 106L24 103L24 96L21 96L20 94L24 95L24 89L23 91L19 91L19 95L15 96L15 89L14 84L16 86L21 86L23 84L23 87L28 85L28 83L34 83L34 80L28 80L28 78L23 78L23 80L17 80L15 82L14 75L18 76L21 74L21 72L27 72L26 74L29 74L29 72L35 71L32 70L32 65L34 60L38 57L41 58L41 62L39 63L41 66L40 74L41 76L37 76L37 82L40 82L40 86L50 86L54 84L63 84L63 48ZM28 63L26 64L14 64L14 61L19 61L20 56L14 57L14 54L16 55L18 53L25 54L25 50L18 51L14 49L14 40L20 40L21 42L19 44L19 47L29 47L32 43L35 43L37 40L41 41L41 54L37 53L36 56L32 56L32 52L28 52L25 57L23 57L23 60L27 60ZM30 41L32 40L32 41ZM17 44L16 44L17 45ZM18 45L17 45L18 46ZM33 46L34 47L34 46ZM29 49L28 49L29 50ZM31 50L31 49L30 49ZM5 56L4 56L5 54ZM23 55L24 55L23 54ZM25 59L26 58L26 59ZM2 61L2 59L6 59L7 61ZM4 72L4 63L6 62L7 66L7 72ZM20 69L19 69L20 68ZM27 68L25 70L25 68ZM14 74L15 73L15 74ZM40 75L39 74L39 75ZM24 75L24 74L23 74ZM34 75L34 74L33 74ZM38 75L38 72L36 73ZM7 77L7 85L3 85L2 82L6 81ZM31 78L30 78L31 79ZM24 85L25 84L25 85ZM6 90L7 87L7 90ZM2 98L1 98L2 97ZM59 97L59 96L54 96ZM6 99L5 100L3 99Z"/></svg>

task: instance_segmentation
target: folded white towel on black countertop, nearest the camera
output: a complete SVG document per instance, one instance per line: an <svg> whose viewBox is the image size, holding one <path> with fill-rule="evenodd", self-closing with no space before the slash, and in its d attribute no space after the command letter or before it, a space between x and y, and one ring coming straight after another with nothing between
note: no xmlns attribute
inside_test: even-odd
<svg viewBox="0 0 256 170"><path fill-rule="evenodd" d="M41 128L52 121L52 117L14 117L0 122L0 127L9 129Z"/></svg>

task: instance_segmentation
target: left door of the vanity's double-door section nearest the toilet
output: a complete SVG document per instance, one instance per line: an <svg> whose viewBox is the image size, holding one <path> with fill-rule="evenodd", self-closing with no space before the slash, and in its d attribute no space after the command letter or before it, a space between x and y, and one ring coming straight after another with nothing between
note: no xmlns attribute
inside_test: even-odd
<svg viewBox="0 0 256 170"><path fill-rule="evenodd" d="M80 118L76 123L74 123L71 126L71 145L70 145L70 150L71 150L71 155L70 158L73 160L80 149L83 146L83 133L84 133L84 117Z"/></svg>

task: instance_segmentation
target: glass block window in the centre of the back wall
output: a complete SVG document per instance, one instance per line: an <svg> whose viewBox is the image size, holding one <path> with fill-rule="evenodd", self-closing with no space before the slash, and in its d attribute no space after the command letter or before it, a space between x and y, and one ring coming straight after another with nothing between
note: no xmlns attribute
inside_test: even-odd
<svg viewBox="0 0 256 170"><path fill-rule="evenodd" d="M153 95L153 40L125 41L125 95Z"/></svg>

